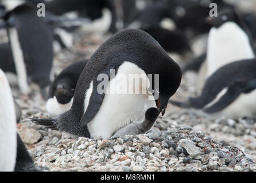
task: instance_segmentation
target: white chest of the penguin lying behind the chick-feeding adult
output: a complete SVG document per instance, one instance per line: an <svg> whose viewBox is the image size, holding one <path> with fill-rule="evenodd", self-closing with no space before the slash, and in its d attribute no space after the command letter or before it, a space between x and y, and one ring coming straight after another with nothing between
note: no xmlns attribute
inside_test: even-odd
<svg viewBox="0 0 256 183"><path fill-rule="evenodd" d="M57 116L63 112L69 110L72 106L73 98L67 104L60 104L56 97L49 98L46 102L46 110L49 114Z"/></svg>

